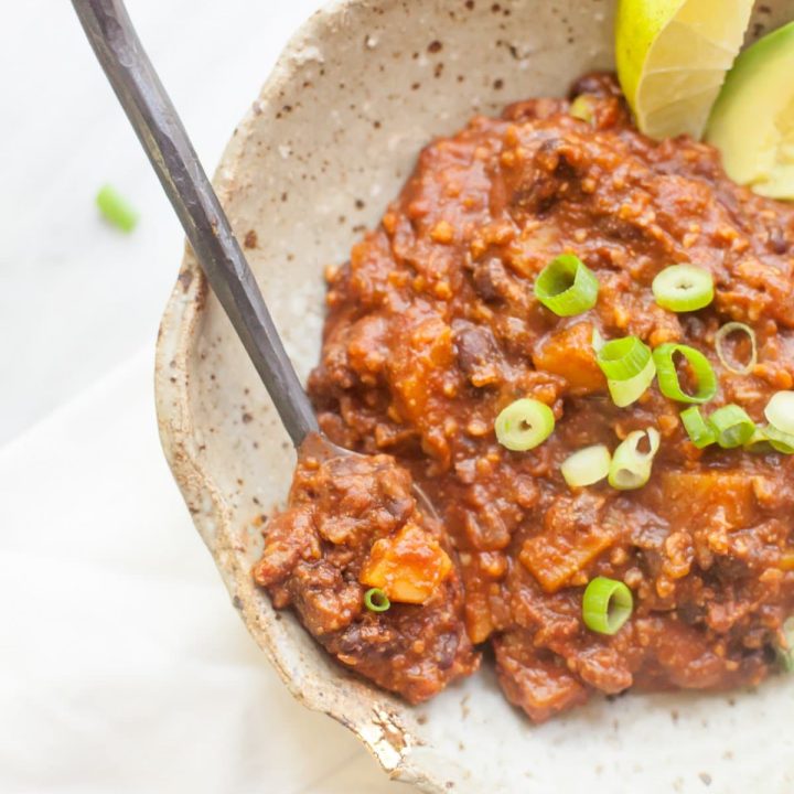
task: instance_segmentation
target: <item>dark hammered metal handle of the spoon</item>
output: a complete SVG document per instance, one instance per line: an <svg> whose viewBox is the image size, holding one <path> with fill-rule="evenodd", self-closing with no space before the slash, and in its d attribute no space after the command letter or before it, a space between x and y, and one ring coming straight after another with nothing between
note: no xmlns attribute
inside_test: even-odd
<svg viewBox="0 0 794 794"><path fill-rule="evenodd" d="M213 291L297 446L318 423L254 273L121 0L72 0Z"/></svg>

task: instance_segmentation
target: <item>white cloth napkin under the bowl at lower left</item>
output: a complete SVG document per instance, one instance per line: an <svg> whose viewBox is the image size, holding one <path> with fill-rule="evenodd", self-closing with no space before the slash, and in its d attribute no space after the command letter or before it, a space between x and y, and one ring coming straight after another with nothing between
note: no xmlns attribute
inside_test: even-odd
<svg viewBox="0 0 794 794"><path fill-rule="evenodd" d="M247 635L164 462L141 352L0 449L0 791L388 794Z"/></svg>

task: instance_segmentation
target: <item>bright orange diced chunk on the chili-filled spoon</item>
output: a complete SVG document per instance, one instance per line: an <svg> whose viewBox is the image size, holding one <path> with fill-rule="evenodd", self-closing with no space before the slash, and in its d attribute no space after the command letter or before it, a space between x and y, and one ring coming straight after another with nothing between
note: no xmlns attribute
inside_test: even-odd
<svg viewBox="0 0 794 794"><path fill-rule="evenodd" d="M421 604L451 572L452 560L438 541L408 523L373 545L360 581L380 588L391 601Z"/></svg>

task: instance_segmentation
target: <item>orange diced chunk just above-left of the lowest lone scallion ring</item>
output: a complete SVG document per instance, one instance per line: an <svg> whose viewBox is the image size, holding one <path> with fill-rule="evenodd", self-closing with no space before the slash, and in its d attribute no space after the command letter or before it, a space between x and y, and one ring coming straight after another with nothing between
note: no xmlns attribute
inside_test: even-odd
<svg viewBox="0 0 794 794"><path fill-rule="evenodd" d="M612 539L598 526L570 533L545 532L524 544L518 559L546 592L554 593L607 549Z"/></svg>

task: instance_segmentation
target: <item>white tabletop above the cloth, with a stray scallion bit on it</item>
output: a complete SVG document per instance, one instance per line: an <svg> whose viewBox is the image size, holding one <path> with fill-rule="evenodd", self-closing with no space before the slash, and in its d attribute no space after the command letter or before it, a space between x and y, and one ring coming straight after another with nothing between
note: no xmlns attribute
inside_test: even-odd
<svg viewBox="0 0 794 794"><path fill-rule="evenodd" d="M205 170L319 0L128 0ZM182 233L68 0L0 24L0 443L153 344ZM100 223L109 182L140 211Z"/></svg>

